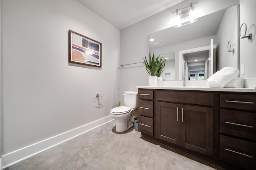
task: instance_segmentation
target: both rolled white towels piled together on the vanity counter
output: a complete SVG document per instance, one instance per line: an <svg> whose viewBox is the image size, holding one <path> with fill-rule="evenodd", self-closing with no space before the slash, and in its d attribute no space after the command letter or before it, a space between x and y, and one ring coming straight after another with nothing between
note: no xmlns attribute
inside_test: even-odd
<svg viewBox="0 0 256 170"><path fill-rule="evenodd" d="M236 78L239 70L234 67L224 67L207 79L206 86L214 88L243 88L244 78Z"/></svg>

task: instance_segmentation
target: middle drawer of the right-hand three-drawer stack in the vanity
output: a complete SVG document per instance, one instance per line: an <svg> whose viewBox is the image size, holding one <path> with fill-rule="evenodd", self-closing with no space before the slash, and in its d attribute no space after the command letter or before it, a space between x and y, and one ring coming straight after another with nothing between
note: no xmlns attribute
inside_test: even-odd
<svg viewBox="0 0 256 170"><path fill-rule="evenodd" d="M220 109L220 133L256 140L256 113Z"/></svg>

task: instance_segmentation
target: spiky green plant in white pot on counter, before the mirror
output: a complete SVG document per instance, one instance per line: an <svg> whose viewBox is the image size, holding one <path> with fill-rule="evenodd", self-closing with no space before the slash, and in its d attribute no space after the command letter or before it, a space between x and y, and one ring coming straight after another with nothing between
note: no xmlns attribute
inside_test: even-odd
<svg viewBox="0 0 256 170"><path fill-rule="evenodd" d="M163 57L157 56L155 57L155 54L153 53L153 56L151 56L151 53L149 52L149 62L145 59L144 64L146 67L146 70L150 76L148 77L148 86L156 86L157 85L157 77L160 76L163 72L163 68L165 66L165 59Z"/></svg>

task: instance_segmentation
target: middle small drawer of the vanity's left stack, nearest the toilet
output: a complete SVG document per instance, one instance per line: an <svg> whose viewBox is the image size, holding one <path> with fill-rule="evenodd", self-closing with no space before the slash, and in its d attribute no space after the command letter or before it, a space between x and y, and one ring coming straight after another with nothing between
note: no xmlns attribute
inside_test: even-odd
<svg viewBox="0 0 256 170"><path fill-rule="evenodd" d="M153 101L139 100L139 114L153 117Z"/></svg>

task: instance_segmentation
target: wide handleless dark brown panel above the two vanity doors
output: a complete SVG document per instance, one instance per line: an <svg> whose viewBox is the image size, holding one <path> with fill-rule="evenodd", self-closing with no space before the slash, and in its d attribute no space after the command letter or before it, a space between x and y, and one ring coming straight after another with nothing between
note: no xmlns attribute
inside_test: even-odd
<svg viewBox="0 0 256 170"><path fill-rule="evenodd" d="M156 91L156 100L213 106L214 94L201 92Z"/></svg>

